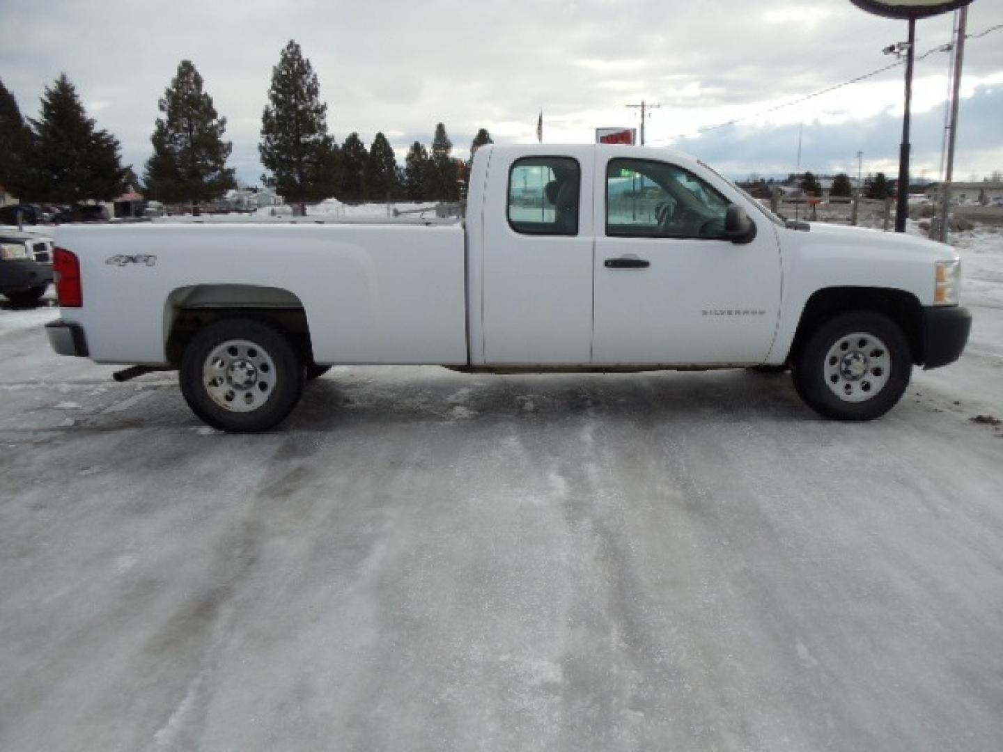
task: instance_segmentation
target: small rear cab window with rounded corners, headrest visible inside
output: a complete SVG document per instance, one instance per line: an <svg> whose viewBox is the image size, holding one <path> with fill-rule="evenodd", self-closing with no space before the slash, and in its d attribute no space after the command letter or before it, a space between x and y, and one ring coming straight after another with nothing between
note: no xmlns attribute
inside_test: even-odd
<svg viewBox="0 0 1003 752"><path fill-rule="evenodd" d="M582 169L570 156L528 156L509 172L509 225L527 235L578 235Z"/></svg>

